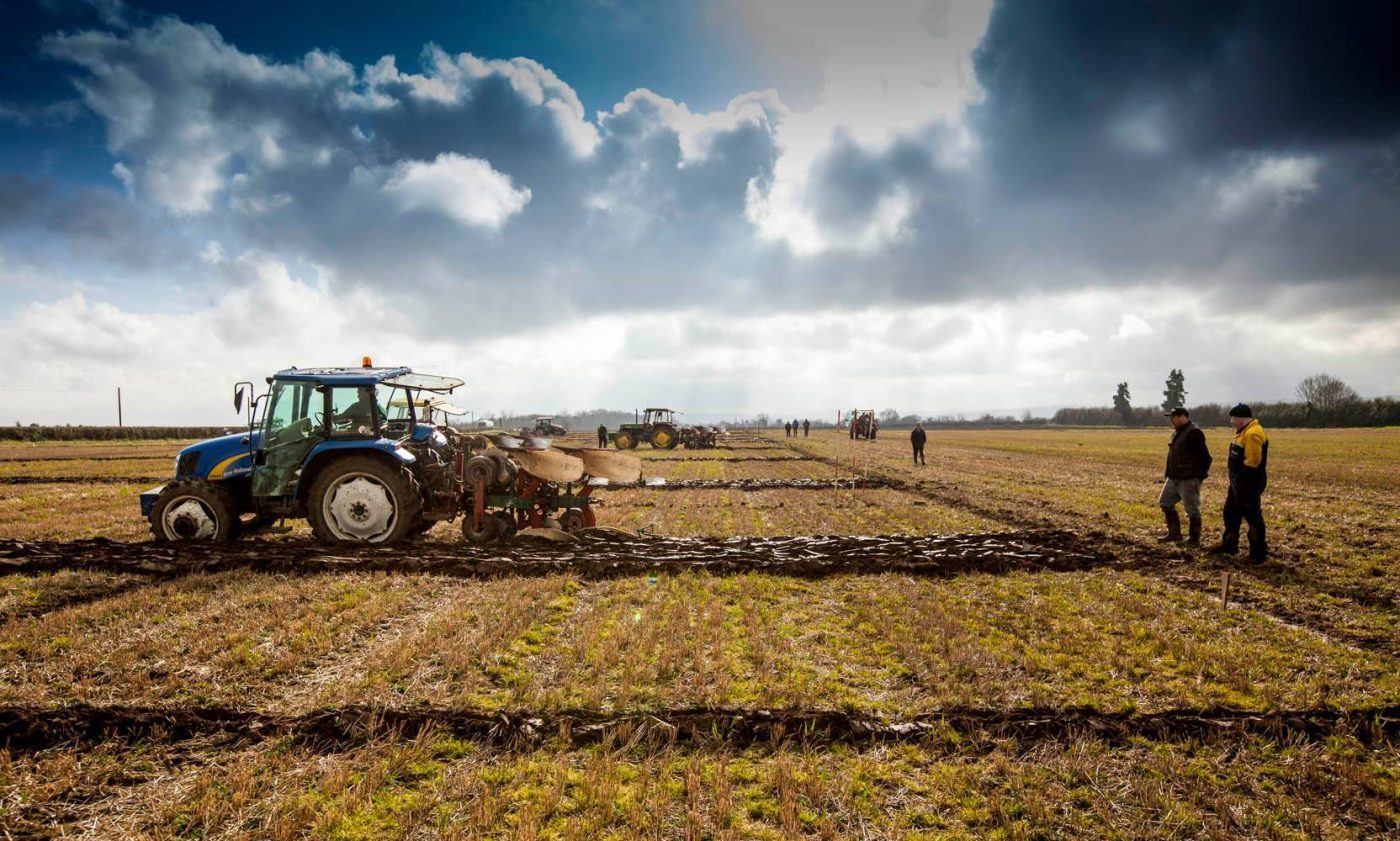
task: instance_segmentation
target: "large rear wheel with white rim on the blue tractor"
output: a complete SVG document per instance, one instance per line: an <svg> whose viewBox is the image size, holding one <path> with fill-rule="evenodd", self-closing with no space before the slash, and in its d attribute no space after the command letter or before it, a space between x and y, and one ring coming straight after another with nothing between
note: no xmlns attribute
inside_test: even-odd
<svg viewBox="0 0 1400 841"><path fill-rule="evenodd" d="M405 469L374 456L346 456L311 483L307 519L322 543L393 543L420 525L423 498Z"/></svg>

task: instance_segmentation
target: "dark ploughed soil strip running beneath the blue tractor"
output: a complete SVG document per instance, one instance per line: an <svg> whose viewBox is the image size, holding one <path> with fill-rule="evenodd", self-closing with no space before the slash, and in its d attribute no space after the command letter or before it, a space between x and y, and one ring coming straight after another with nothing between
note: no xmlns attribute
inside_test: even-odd
<svg viewBox="0 0 1400 841"><path fill-rule="evenodd" d="M249 568L266 572L386 571L461 578L570 574L601 579L647 572L773 572L805 578L900 572L952 577L974 572L1068 572L1116 565L1067 530L986 535L633 537L585 536L577 543L517 539L476 547L420 543L368 547L309 542L231 544L0 540L0 574L101 570L182 575Z"/></svg>

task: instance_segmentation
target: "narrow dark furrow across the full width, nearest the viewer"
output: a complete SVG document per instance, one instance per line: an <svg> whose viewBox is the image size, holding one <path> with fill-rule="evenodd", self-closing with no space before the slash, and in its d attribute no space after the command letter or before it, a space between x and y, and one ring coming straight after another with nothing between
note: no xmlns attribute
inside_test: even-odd
<svg viewBox="0 0 1400 841"><path fill-rule="evenodd" d="M1168 709L1151 714L1100 712L1091 707L960 707L900 721L837 709L686 708L623 714L574 709L536 714L349 705L276 715L230 707L0 707L0 744L10 751L105 742L171 744L200 740L209 747L211 742L228 744L281 737L337 751L377 739L413 739L427 732L507 749L645 742L735 747L942 740L990 743L997 739L1025 743L1084 737L1121 744L1133 739L1207 742L1252 736L1289 742L1351 736L1375 744L1400 739L1400 705L1271 712Z"/></svg>

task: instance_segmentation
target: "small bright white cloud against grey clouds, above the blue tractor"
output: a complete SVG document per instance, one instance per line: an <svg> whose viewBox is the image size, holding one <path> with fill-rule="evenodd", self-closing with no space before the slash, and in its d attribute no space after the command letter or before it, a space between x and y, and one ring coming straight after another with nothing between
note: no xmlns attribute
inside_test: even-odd
<svg viewBox="0 0 1400 841"><path fill-rule="evenodd" d="M480 158L442 153L433 161L400 161L384 182L400 210L442 213L463 225L498 229L529 202L529 188Z"/></svg>

